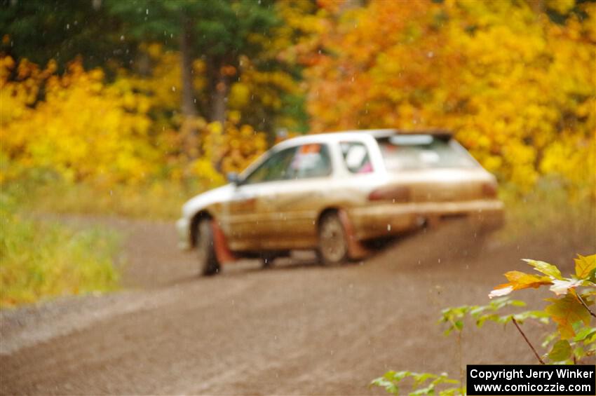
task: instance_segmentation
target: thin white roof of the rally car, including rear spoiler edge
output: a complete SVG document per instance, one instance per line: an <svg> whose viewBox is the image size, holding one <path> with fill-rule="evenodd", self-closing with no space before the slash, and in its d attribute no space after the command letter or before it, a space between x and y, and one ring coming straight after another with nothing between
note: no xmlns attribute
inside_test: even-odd
<svg viewBox="0 0 596 396"><path fill-rule="evenodd" d="M342 130L337 132L316 133L313 135L303 135L292 137L284 140L276 145L278 149L295 146L297 144L311 144L323 142L337 142L345 139L358 139L363 135L371 136L374 139L383 139L393 135L452 135L449 130L443 129L416 129L416 130L402 130L402 129L363 129L363 130Z"/></svg>

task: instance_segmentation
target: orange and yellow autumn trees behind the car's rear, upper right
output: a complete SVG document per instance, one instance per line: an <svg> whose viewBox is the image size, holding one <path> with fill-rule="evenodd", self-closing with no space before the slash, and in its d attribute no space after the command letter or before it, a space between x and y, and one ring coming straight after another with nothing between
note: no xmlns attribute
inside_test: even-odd
<svg viewBox="0 0 596 396"><path fill-rule="evenodd" d="M543 174L594 186L596 7L561 3L327 8L313 41L297 48L311 127L451 128L522 189Z"/></svg>

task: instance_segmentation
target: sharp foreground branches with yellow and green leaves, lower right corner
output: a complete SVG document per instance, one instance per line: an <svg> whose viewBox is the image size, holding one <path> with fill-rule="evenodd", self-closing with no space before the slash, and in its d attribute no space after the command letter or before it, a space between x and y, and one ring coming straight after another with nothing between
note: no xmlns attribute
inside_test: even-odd
<svg viewBox="0 0 596 396"><path fill-rule="evenodd" d="M412 380L412 391L409 395L463 395L463 367L461 367L461 332L463 319L472 318L477 327L485 322L506 325L512 322L531 353L540 364L579 364L586 357L596 355L596 327L592 326L595 317L594 305L596 296L596 254L575 259L574 274L563 277L557 266L544 261L526 261L541 275L509 271L505 274L509 282L495 287L489 293L491 299L485 306L459 306L445 308L441 311L440 323L447 325L445 335L456 332L460 355L460 378L449 378L447 373L439 375L415 373L412 371L388 371L371 382L371 386L385 388L388 393L400 394L402 381ZM524 301L512 300L507 296L514 290L538 289L548 286L555 293L554 298L546 299L550 304L543 310L526 310L520 313L501 314L503 308L526 306ZM496 297L496 298L495 298ZM548 353L540 355L534 343L524 333L522 326L526 320L537 320L548 325L554 322L556 329L542 341L541 347Z"/></svg>

